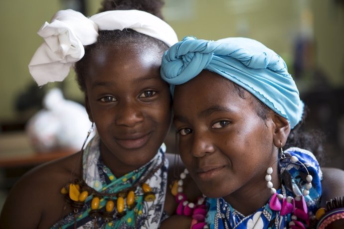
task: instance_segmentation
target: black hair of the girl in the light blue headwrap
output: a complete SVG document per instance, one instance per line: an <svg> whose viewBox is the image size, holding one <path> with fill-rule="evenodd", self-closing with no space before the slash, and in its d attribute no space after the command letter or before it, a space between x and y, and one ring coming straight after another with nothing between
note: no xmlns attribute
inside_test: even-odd
<svg viewBox="0 0 344 229"><path fill-rule="evenodd" d="M238 95L242 99L247 99L247 95L251 95L252 101L254 103L254 107L256 110L257 115L266 120L270 114L270 108L266 106L263 102L258 100L255 96L249 93L247 90L242 88L241 86L235 84L234 82L230 81L234 88L236 89ZM319 163L325 162L325 150L323 147L323 141L325 139L325 135L320 130L311 130L306 131L303 129L302 123L305 122L307 116L307 107L305 106L304 113L302 116L302 120L290 131L290 134L287 138L287 142L284 146L285 149L290 147L299 147L302 149L306 149L311 151L316 157Z"/></svg>

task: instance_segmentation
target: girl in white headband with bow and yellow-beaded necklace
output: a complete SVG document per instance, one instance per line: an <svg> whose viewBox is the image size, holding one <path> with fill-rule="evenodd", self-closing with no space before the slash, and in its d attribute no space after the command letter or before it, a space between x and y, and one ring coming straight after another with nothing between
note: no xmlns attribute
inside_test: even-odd
<svg viewBox="0 0 344 229"><path fill-rule="evenodd" d="M177 37L142 11L159 14L161 6L109 0L91 17L58 11L40 28L33 79L62 81L74 67L97 133L80 152L26 174L6 200L1 227L158 228L174 212L163 143L171 95L160 66Z"/></svg>

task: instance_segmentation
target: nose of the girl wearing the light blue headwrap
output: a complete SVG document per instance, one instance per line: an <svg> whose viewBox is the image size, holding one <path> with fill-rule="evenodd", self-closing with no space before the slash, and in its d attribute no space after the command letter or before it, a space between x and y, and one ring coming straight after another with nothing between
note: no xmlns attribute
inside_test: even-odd
<svg viewBox="0 0 344 229"><path fill-rule="evenodd" d="M211 138L211 134L207 131L194 132L192 136L192 143L190 153L194 157L204 157L206 154L215 151L215 146Z"/></svg>

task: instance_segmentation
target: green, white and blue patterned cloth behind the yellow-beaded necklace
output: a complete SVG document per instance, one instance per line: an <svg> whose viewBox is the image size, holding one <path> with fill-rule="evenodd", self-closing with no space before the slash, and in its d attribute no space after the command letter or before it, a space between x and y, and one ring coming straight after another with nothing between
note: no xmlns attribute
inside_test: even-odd
<svg viewBox="0 0 344 229"><path fill-rule="evenodd" d="M156 199L153 202L144 201L144 192L141 186L135 189L136 206L129 210L122 217L113 215L114 220L105 222L102 217L96 220L89 215L93 196L89 196L84 207L76 214L70 213L59 222L53 225L52 229L156 229L159 228L162 218L164 218L164 201L167 188L168 161L165 159L166 146L163 144L157 155L146 165L122 177L115 177L108 167L106 167L100 157L99 136L96 135L87 145L83 152L83 179L86 184L99 192L116 193L125 188L131 187L136 181L146 177L157 166L163 164L148 180L155 193ZM163 162L164 160L164 162ZM114 198L116 199L116 197ZM104 211L107 198L100 200L100 211ZM76 218L75 218L76 217ZM76 220L75 220L76 219Z"/></svg>

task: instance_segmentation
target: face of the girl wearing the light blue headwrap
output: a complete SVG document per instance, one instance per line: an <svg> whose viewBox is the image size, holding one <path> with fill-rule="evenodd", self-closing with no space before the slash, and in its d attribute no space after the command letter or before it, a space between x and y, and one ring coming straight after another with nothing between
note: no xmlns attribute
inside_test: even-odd
<svg viewBox="0 0 344 229"><path fill-rule="evenodd" d="M176 86L173 99L180 156L204 195L230 202L268 192L274 123L257 115L252 96L242 99L229 80L203 70Z"/></svg>

